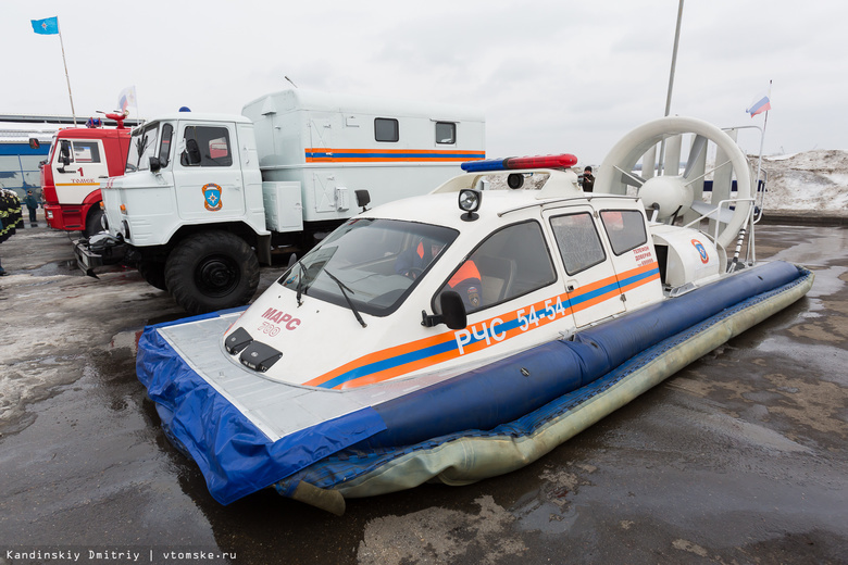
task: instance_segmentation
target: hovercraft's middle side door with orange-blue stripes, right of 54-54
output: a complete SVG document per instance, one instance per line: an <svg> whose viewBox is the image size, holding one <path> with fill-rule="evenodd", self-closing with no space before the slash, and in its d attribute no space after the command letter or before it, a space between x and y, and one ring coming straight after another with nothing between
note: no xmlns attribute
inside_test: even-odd
<svg viewBox="0 0 848 565"><path fill-rule="evenodd" d="M589 206L545 213L565 267L565 292L577 327L624 312L611 253Z"/></svg>

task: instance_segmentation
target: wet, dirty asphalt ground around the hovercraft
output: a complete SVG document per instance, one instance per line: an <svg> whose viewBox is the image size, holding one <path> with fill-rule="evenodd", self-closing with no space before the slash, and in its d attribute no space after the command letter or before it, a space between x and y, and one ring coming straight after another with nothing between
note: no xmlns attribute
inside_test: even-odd
<svg viewBox="0 0 848 565"><path fill-rule="evenodd" d="M757 254L813 269L808 297L521 470L337 517L216 503L135 376L178 309L26 228L0 246L0 565L848 563L848 228L760 225Z"/></svg>

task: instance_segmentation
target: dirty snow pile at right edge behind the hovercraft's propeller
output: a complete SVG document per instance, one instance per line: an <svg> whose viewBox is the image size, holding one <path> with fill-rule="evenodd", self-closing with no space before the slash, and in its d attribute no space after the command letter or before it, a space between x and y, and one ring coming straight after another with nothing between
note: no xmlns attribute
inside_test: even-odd
<svg viewBox="0 0 848 565"><path fill-rule="evenodd" d="M756 158L749 158L757 164ZM765 212L848 214L848 151L815 150L766 156Z"/></svg>

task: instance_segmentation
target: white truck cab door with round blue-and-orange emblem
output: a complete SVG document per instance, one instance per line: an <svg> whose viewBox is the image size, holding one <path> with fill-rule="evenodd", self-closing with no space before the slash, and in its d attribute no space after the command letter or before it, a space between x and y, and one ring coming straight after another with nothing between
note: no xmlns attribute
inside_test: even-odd
<svg viewBox="0 0 848 565"><path fill-rule="evenodd" d="M182 122L174 164L179 217L215 221L245 215L235 124Z"/></svg>

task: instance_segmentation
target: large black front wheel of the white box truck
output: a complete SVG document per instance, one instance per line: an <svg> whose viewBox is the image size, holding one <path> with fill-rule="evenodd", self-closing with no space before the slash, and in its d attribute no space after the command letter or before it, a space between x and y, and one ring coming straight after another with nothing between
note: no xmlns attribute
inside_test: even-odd
<svg viewBox="0 0 848 565"><path fill-rule="evenodd" d="M259 260L233 234L196 234L169 255L165 285L176 303L191 314L240 306L259 286Z"/></svg>

